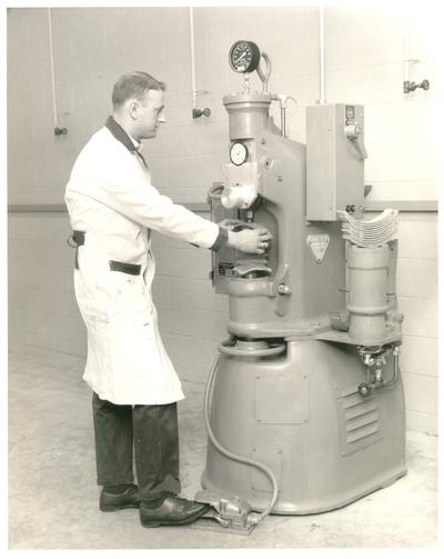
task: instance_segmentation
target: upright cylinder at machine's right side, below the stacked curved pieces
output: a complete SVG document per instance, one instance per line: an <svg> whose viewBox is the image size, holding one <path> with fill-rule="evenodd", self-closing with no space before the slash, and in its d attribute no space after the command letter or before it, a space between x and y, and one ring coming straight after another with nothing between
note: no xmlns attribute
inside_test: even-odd
<svg viewBox="0 0 444 559"><path fill-rule="evenodd" d="M386 336L389 264L387 244L376 248L349 244L349 335L355 340L376 341Z"/></svg>

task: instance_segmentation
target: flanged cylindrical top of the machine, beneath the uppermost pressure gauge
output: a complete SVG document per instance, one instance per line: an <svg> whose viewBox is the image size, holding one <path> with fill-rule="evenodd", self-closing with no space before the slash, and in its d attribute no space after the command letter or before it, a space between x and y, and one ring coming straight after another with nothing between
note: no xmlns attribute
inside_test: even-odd
<svg viewBox="0 0 444 559"><path fill-rule="evenodd" d="M226 96L223 104L230 116L230 139L256 138L266 128L270 93Z"/></svg>

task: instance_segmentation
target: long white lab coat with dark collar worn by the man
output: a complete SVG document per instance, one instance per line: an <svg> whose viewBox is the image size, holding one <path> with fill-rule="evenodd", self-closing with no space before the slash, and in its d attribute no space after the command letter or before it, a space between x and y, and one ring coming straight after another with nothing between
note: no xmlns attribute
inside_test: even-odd
<svg viewBox="0 0 444 559"><path fill-rule="evenodd" d="M84 380L120 405L182 399L163 347L151 298L150 229L211 248L219 227L161 196L135 152L99 130L79 154L67 186L73 230L85 232L74 270L75 297L88 329ZM109 261L141 264L140 276L111 271Z"/></svg>

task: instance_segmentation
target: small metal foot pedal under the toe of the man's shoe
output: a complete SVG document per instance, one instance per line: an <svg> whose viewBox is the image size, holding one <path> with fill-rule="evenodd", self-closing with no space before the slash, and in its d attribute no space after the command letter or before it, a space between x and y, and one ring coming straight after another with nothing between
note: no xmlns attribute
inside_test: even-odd
<svg viewBox="0 0 444 559"><path fill-rule="evenodd" d="M193 525L196 528L249 536L259 523L259 515L236 496L226 497L219 491L202 489L195 493L194 500L211 506Z"/></svg>

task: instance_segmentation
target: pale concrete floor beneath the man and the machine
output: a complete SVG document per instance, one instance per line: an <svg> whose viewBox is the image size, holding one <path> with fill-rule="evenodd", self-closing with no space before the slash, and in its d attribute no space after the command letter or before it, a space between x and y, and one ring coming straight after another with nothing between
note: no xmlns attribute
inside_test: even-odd
<svg viewBox="0 0 444 559"><path fill-rule="evenodd" d="M342 509L268 517L251 536L198 525L145 529L134 509L99 511L83 360L10 348L9 549L428 548L437 546L437 438L407 433L407 476ZM182 493L200 488L204 387L180 403ZM425 551L425 549L424 549Z"/></svg>

